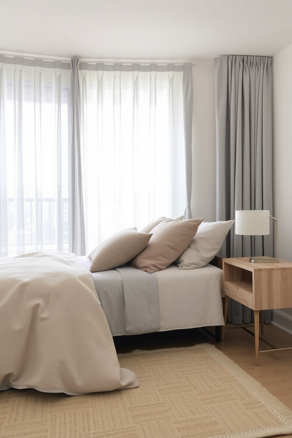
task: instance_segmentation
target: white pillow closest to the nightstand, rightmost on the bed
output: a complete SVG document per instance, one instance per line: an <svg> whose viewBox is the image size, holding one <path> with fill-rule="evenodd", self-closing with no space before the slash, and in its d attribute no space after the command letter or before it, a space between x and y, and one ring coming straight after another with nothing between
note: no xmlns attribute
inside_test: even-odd
<svg viewBox="0 0 292 438"><path fill-rule="evenodd" d="M207 265L218 253L234 220L202 222L183 254L176 259L179 269L195 269Z"/></svg>

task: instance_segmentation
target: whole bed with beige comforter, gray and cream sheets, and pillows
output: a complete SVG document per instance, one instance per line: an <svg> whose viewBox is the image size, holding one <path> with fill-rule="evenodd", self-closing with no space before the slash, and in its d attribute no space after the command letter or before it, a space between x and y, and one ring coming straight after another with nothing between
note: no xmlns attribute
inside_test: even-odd
<svg viewBox="0 0 292 438"><path fill-rule="evenodd" d="M35 252L0 259L0 390L135 388L113 336L224 324L222 270L208 261L234 221L160 222L158 232L155 225L151 233L117 233L88 257ZM189 225L197 240L185 236Z"/></svg>

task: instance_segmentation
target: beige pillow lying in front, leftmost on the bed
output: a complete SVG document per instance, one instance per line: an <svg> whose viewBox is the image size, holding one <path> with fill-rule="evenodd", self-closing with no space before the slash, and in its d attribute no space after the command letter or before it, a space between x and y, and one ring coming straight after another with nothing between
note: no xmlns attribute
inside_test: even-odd
<svg viewBox="0 0 292 438"><path fill-rule="evenodd" d="M91 261L90 272L107 271L124 265L136 257L147 246L152 234L141 233L136 228L118 231L103 240L88 255Z"/></svg>

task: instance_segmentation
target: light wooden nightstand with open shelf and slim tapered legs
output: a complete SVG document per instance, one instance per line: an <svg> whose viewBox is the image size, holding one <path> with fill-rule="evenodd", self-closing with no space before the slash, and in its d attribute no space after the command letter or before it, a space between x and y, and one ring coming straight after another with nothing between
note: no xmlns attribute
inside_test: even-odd
<svg viewBox="0 0 292 438"><path fill-rule="evenodd" d="M260 311L292 307L292 262L250 263L249 257L223 258L223 292L225 324L229 297L254 310L256 365L259 364L260 352L292 350L289 347L259 351ZM225 326L222 329L222 341L224 337Z"/></svg>

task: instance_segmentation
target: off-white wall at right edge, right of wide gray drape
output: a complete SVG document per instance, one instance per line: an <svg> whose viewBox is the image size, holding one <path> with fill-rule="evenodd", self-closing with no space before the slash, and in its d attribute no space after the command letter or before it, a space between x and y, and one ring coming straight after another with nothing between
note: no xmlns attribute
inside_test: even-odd
<svg viewBox="0 0 292 438"><path fill-rule="evenodd" d="M292 261L292 44L273 57L272 77L273 209L279 257ZM292 309L273 311L272 320L292 333Z"/></svg>

